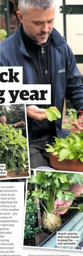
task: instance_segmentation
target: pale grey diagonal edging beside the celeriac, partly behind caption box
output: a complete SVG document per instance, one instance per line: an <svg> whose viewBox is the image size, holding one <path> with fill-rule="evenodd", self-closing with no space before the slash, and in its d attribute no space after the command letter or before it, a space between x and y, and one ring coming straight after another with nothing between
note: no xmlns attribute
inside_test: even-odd
<svg viewBox="0 0 83 256"><path fill-rule="evenodd" d="M69 218L61 227L56 229L47 239L45 239L41 244L38 245L38 247L49 247L49 248L70 248L70 249L76 249L77 246L72 247L65 247L65 246L57 246L57 232L78 232L80 235L80 239L77 240L77 244L80 243L83 239L83 212L82 213L74 213L72 217ZM76 239L75 239L76 241Z"/></svg>

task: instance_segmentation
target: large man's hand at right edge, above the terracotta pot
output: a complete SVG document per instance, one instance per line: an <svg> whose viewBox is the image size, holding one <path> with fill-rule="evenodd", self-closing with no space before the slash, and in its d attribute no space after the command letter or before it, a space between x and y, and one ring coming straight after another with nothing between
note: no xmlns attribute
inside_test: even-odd
<svg viewBox="0 0 83 256"><path fill-rule="evenodd" d="M71 124L80 131L83 131L83 113L80 113L78 120L76 122L72 121Z"/></svg>

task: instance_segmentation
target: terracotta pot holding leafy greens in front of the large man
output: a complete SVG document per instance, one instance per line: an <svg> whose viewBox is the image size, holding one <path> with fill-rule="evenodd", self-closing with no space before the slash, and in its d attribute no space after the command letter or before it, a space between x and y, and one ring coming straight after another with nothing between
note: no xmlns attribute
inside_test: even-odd
<svg viewBox="0 0 83 256"><path fill-rule="evenodd" d="M58 171L69 171L69 172L83 172L83 163L81 161L72 159L58 161L59 157L54 156L53 153L49 153L50 155L50 164L53 166L55 170Z"/></svg>

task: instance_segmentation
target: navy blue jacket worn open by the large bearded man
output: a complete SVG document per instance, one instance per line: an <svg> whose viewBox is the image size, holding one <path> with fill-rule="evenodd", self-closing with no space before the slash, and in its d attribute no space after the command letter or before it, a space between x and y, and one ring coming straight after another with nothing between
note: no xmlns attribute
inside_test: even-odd
<svg viewBox="0 0 83 256"><path fill-rule="evenodd" d="M21 38L20 30L1 42L1 65L22 66L23 84L35 84L34 63L26 52ZM65 39L53 28L50 34L50 56L51 56L51 97L53 106L57 107L63 115L65 97L70 100L78 112L83 109L83 84L81 74L76 66L75 57L66 44ZM31 138L31 127L33 119L28 120L29 142ZM65 138L66 132L62 127L62 118L52 122L57 137Z"/></svg>

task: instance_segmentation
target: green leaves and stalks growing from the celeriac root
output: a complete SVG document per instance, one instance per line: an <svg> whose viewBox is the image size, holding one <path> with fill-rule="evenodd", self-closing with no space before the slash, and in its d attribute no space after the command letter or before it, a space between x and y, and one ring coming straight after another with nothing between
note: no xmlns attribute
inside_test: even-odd
<svg viewBox="0 0 83 256"><path fill-rule="evenodd" d="M34 177L34 176L33 176ZM32 197L39 197L45 202L47 211L51 213L54 208L54 201L57 197L60 201L65 199L71 201L75 199L75 194L70 190L71 184L83 184L83 175L78 173L64 172L41 172L38 171L34 179L29 178L28 183L38 184L38 190L32 191Z"/></svg>

